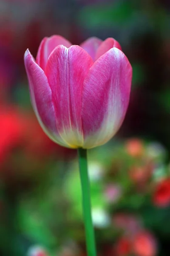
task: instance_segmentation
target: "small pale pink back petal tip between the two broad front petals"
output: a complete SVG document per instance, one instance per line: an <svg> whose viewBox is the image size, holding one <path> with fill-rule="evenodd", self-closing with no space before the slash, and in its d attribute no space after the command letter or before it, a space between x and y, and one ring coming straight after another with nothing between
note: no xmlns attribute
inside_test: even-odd
<svg viewBox="0 0 170 256"><path fill-rule="evenodd" d="M82 44L80 44L80 47L85 49L85 51L88 52L89 55L91 55L91 58L95 60L96 51L101 44L102 44L101 39L96 37L91 37L91 38L88 38L86 41L84 41Z"/></svg>

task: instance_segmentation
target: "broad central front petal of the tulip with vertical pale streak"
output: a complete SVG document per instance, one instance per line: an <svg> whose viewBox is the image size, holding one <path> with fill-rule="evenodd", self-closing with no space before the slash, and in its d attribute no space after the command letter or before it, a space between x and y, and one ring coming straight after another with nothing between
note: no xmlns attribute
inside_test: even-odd
<svg viewBox="0 0 170 256"><path fill-rule="evenodd" d="M59 45L50 55L45 71L57 113L57 129L75 148L83 145L82 86L92 64L90 55L78 45Z"/></svg>

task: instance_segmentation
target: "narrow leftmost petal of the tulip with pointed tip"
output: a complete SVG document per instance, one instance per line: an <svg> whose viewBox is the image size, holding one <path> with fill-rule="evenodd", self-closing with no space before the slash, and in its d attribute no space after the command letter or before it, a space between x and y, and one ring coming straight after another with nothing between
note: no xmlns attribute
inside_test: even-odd
<svg viewBox="0 0 170 256"><path fill-rule="evenodd" d="M59 136L56 127L54 106L51 100L51 89L44 71L36 64L27 49L24 55L26 73L29 81L31 102L42 129L60 145L69 147Z"/></svg>

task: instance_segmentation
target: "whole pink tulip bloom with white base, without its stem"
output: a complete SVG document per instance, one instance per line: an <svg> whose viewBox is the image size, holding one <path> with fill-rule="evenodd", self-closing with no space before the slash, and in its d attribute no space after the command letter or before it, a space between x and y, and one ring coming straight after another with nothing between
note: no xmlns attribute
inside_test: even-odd
<svg viewBox="0 0 170 256"><path fill-rule="evenodd" d="M36 61L24 55L31 102L45 133L68 148L93 148L113 137L127 110L132 67L113 38L80 46L44 38Z"/></svg>

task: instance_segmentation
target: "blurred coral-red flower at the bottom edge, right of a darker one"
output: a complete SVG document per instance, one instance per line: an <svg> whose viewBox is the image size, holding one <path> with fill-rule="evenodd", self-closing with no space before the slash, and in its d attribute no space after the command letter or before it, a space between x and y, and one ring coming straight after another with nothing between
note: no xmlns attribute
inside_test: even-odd
<svg viewBox="0 0 170 256"><path fill-rule="evenodd" d="M136 256L156 256L155 237L148 231L141 231L133 239L133 253Z"/></svg>

